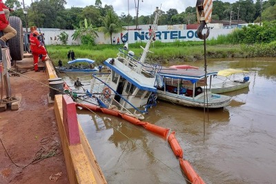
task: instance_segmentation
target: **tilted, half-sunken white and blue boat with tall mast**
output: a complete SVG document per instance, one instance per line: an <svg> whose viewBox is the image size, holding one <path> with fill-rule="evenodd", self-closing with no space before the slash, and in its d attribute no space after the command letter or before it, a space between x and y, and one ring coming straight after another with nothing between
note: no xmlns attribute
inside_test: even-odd
<svg viewBox="0 0 276 184"><path fill-rule="evenodd" d="M117 109L141 118L141 114L146 114L148 108L156 105L156 77L144 74L142 69L150 43L155 39L160 14L161 11L157 8L152 32L148 35L149 39L141 57L134 58L132 52L121 48L117 58L109 58L103 62L110 72L92 74L94 77L91 80L90 94L95 96L101 107Z"/></svg>

